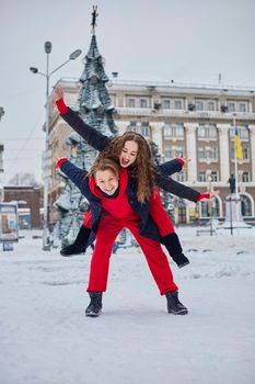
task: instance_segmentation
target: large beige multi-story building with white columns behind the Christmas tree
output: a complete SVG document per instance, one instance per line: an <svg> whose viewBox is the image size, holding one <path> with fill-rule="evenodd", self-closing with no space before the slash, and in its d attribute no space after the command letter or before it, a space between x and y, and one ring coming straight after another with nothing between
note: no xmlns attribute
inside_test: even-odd
<svg viewBox="0 0 255 384"><path fill-rule="evenodd" d="M60 80L67 104L73 106L79 82ZM162 161L186 157L185 172L177 181L204 192L219 190L213 216L225 216L229 178L235 172L234 134L237 128L243 160L237 161L237 185L245 221L255 222L255 94L253 90L219 86L195 86L171 82L109 81L108 91L116 108L115 123L119 134L135 131L158 145ZM49 143L53 158L65 153L70 129L51 111ZM65 153L65 155L68 155ZM54 166L53 166L54 167ZM54 173L54 171L53 171ZM50 194L60 188L53 178ZM176 199L176 221L189 223L208 218L208 203L195 205Z"/></svg>

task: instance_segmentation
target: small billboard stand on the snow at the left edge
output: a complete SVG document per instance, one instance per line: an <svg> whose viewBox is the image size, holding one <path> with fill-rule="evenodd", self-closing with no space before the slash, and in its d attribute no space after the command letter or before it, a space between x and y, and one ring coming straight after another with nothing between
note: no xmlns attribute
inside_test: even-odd
<svg viewBox="0 0 255 384"><path fill-rule="evenodd" d="M18 241L18 204L0 203L0 241Z"/></svg>

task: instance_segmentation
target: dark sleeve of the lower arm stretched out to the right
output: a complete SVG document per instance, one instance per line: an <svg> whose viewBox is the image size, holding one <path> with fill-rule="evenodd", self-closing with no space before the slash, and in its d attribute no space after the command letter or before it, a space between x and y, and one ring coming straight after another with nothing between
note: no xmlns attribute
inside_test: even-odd
<svg viewBox="0 0 255 384"><path fill-rule="evenodd" d="M193 190L189 187L186 187L184 184L181 184L177 181L174 181L173 179L169 178L165 174L159 174L157 178L157 184L162 188L164 191L167 191L172 194L175 194L178 197L187 199L194 203L197 202L198 196L200 195L199 192Z"/></svg>

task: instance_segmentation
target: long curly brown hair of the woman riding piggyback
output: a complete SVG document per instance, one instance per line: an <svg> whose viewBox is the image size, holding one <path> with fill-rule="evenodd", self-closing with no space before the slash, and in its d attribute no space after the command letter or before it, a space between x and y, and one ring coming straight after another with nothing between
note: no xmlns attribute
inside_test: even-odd
<svg viewBox="0 0 255 384"><path fill-rule="evenodd" d="M101 159L109 158L119 163L119 156L126 142L138 144L137 159L127 170L128 174L136 179L138 201L144 203L146 200L149 200L150 192L155 187L157 177L150 146L144 137L135 132L125 132L121 136L114 138L98 157Z"/></svg>

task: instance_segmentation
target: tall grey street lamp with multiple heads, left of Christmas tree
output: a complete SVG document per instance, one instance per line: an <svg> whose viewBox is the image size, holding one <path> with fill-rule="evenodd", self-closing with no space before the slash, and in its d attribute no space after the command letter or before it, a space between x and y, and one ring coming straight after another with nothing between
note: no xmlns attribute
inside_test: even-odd
<svg viewBox="0 0 255 384"><path fill-rule="evenodd" d="M44 159L44 171L45 171L45 180L44 180L44 233L43 233L43 249L50 250L50 245L48 241L48 177L46 174L46 160L49 148L49 78L53 74L55 74L58 69L63 67L70 60L74 60L81 54L81 49L74 50L70 54L69 59L62 63L60 66L55 68L51 72L49 72L49 54L51 52L51 43L46 42L44 45L45 53L47 55L46 61L46 74L40 72L36 67L30 67L30 70L33 74L42 75L46 78L46 138L45 138L45 159Z"/></svg>

